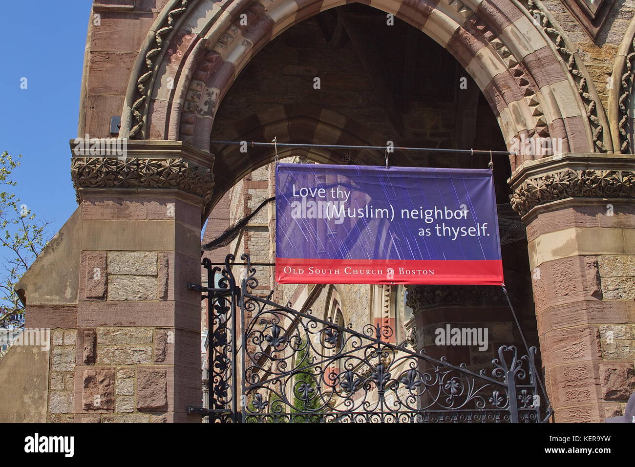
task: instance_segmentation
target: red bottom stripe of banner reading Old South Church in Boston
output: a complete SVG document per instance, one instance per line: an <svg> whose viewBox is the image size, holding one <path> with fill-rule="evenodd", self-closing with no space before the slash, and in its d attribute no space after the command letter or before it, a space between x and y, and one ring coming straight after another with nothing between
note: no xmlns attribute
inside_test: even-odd
<svg viewBox="0 0 635 467"><path fill-rule="evenodd" d="M389 268L394 270L392 274ZM500 260L276 258L276 281L281 284L504 284Z"/></svg>

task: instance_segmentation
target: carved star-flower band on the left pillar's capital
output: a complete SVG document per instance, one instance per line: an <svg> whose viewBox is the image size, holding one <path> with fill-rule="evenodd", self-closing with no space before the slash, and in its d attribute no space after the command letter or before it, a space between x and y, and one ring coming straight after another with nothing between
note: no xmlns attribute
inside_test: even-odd
<svg viewBox="0 0 635 467"><path fill-rule="evenodd" d="M185 159L73 158L70 168L79 188L177 188L211 199L214 175Z"/></svg>

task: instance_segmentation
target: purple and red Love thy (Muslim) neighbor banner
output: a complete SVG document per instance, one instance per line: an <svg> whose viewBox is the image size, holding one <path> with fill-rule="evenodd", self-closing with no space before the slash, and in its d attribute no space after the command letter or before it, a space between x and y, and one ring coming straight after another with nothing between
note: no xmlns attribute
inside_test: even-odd
<svg viewBox="0 0 635 467"><path fill-rule="evenodd" d="M501 285L491 170L277 165L276 280Z"/></svg>

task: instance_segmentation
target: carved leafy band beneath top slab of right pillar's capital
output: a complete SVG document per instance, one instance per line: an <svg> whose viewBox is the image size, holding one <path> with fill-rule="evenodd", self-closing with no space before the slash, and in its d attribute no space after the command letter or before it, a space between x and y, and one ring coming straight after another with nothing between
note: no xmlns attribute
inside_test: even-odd
<svg viewBox="0 0 635 467"><path fill-rule="evenodd" d="M535 206L572 197L635 198L635 172L559 170L525 180L510 196L512 208L520 215Z"/></svg>

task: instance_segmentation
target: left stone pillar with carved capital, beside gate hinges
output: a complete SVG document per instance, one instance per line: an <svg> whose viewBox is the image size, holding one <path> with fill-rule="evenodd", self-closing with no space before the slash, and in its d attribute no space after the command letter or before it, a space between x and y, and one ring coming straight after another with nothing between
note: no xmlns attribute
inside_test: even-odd
<svg viewBox="0 0 635 467"><path fill-rule="evenodd" d="M199 423L185 413L201 405L201 294L187 283L201 280L213 156L173 141L89 150L72 159L80 206L44 255L46 274L76 271L71 303L30 313L38 262L20 284L27 320L54 328L48 421Z"/></svg>

